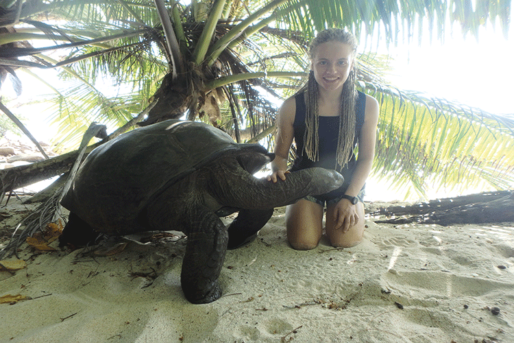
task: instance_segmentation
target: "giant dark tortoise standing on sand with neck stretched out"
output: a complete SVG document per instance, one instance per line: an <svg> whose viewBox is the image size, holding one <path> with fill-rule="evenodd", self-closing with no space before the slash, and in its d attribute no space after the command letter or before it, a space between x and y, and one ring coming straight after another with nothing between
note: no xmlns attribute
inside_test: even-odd
<svg viewBox="0 0 514 343"><path fill-rule="evenodd" d="M273 208L343 183L336 171L321 168L276 183L255 178L273 158L261 145L235 143L199 122L168 120L127 132L97 147L79 168L62 199L70 217L60 244L83 245L98 233L182 231L182 290L191 303L210 303L221 296L227 248L254 237ZM227 228L219 217L236 211Z"/></svg>

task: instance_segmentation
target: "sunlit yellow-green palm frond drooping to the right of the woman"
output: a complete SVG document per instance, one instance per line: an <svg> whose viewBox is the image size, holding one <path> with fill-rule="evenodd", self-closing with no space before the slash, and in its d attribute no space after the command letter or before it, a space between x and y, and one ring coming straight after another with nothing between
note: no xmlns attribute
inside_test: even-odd
<svg viewBox="0 0 514 343"><path fill-rule="evenodd" d="M415 92L366 84L380 102L374 171L424 196L427 184L509 189L514 118Z"/></svg>

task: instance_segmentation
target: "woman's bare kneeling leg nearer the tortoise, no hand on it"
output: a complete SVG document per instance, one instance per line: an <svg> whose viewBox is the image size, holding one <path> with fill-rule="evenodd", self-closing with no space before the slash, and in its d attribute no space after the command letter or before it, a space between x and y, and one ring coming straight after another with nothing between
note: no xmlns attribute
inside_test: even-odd
<svg viewBox="0 0 514 343"><path fill-rule="evenodd" d="M294 249L316 248L323 234L323 206L300 199L286 209L287 240Z"/></svg>

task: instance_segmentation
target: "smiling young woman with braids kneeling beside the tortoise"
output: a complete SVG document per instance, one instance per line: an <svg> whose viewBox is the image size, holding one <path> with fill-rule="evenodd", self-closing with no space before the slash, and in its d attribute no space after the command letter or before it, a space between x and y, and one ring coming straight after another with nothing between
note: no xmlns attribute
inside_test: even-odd
<svg viewBox="0 0 514 343"><path fill-rule="evenodd" d="M326 235L332 246L355 246L363 239L363 196L375 155L378 102L355 90L356 47L354 36L343 29L320 32L310 45L306 86L286 99L278 112L276 158L268 180L286 179L293 139L297 158L291 170L325 167L345 177L336 191L287 207L287 239L295 249L317 246L325 204Z"/></svg>

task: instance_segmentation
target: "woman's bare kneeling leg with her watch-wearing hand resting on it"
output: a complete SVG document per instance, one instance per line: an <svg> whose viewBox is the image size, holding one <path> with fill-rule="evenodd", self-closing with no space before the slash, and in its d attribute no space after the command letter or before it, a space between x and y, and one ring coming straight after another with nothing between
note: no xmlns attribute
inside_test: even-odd
<svg viewBox="0 0 514 343"><path fill-rule="evenodd" d="M335 204L327 207L326 215L326 234L330 240L330 244L338 248L350 248L356 246L363 240L364 235L364 204L363 202L357 202L358 221L354 226L350 226L345 233L341 228L334 229L334 207Z"/></svg>

